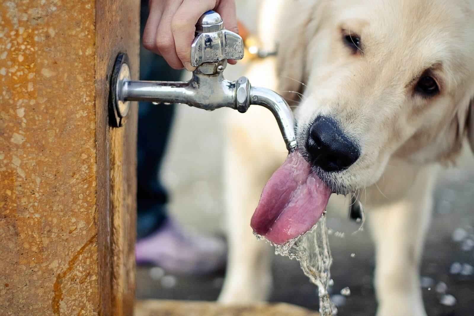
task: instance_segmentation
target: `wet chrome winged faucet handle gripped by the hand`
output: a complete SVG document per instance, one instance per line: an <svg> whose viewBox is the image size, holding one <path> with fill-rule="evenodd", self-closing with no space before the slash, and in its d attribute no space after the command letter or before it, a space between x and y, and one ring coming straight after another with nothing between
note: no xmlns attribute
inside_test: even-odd
<svg viewBox="0 0 474 316"><path fill-rule="evenodd" d="M215 11L207 11L196 23L196 37L191 45L191 65L215 63L224 59L244 58L244 42L237 33L224 28Z"/></svg>

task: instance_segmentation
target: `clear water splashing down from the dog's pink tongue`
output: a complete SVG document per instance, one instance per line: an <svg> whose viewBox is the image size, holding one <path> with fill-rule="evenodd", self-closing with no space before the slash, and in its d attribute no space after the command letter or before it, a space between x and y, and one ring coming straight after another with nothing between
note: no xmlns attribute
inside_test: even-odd
<svg viewBox="0 0 474 316"><path fill-rule="evenodd" d="M258 239L264 239L263 236L256 236ZM331 302L328 293L332 256L329 250L326 217L323 215L318 223L305 234L285 244L273 244L273 246L275 246L275 254L298 260L304 274L318 287L321 316L336 315L337 307Z"/></svg>

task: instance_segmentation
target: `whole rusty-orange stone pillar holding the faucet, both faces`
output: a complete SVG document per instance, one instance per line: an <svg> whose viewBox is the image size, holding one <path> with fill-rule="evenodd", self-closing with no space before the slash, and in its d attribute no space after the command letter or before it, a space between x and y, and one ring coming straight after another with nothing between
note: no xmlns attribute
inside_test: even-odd
<svg viewBox="0 0 474 316"><path fill-rule="evenodd" d="M0 315L132 315L137 104L109 127L138 0L0 3Z"/></svg>

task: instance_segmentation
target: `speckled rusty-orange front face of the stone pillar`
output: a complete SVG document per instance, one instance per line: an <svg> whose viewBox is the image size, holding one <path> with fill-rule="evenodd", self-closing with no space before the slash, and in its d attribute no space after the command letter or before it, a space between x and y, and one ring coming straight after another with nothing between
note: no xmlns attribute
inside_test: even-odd
<svg viewBox="0 0 474 316"><path fill-rule="evenodd" d="M92 0L0 3L1 315L98 313L94 23Z"/></svg>

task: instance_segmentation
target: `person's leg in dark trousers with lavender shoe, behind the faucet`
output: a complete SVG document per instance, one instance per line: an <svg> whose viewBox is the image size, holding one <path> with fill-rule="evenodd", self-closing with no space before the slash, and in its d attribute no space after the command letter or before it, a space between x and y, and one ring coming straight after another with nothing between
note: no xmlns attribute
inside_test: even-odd
<svg viewBox="0 0 474 316"><path fill-rule="evenodd" d="M142 34L148 8L142 4ZM140 51L140 79L178 81L181 71L171 69L164 59ZM154 264L177 273L209 273L225 266L226 244L204 235L190 235L168 218L167 192L158 174L166 149L174 105L141 102L138 110L138 264Z"/></svg>

